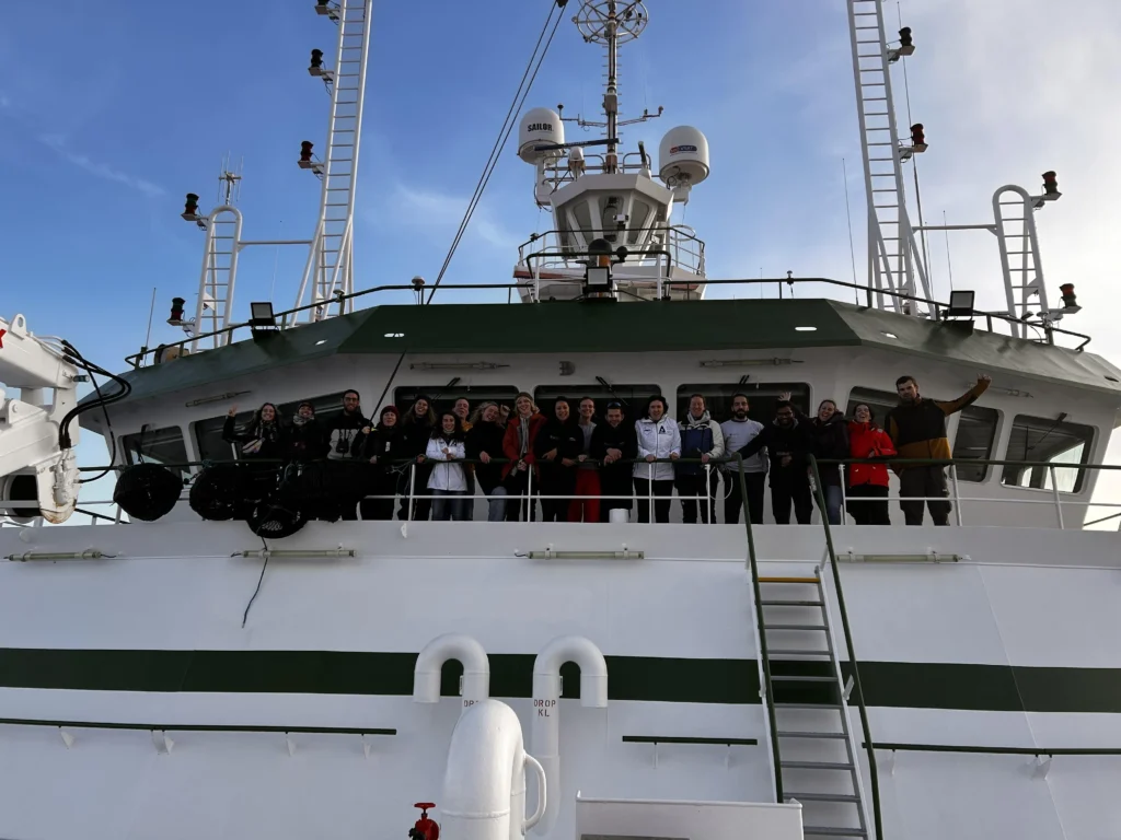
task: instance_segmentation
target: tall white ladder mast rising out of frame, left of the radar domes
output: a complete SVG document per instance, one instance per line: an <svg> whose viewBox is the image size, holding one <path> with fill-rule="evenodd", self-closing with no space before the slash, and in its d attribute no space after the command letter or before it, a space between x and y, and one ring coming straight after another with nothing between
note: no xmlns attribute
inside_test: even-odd
<svg viewBox="0 0 1121 840"><path fill-rule="evenodd" d="M372 22L371 6L372 0L339 0L330 6L327 12L339 27L339 45L331 75L331 118L326 151L322 166L316 170L323 180L319 221L296 299L297 308L305 302L324 301L324 306L309 310L309 317L314 320L337 314L337 308L326 304L337 299L339 295L352 295L354 291L354 192ZM308 284L312 287L312 299L305 301ZM348 306L353 310L352 301L348 301Z"/></svg>

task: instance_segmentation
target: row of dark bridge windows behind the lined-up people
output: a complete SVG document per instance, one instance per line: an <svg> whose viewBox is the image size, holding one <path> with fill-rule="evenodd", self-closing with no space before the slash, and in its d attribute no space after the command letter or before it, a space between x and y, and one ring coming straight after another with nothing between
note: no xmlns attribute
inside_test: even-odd
<svg viewBox="0 0 1121 840"><path fill-rule="evenodd" d="M677 389L677 416L684 417L688 411L689 395L705 395L708 411L716 420L725 420L731 416L732 395L747 393L751 401L751 416L756 419L773 416L778 395L789 391L794 400L807 410L814 408L807 404L809 385L803 382L790 383L751 383L741 384L688 384ZM513 400L518 389L513 386L484 386L471 389L418 389L414 386L398 388L393 392L396 405L404 412L419 394L426 394L439 412L448 410L460 396L466 396L472 405L480 402L494 401L500 405L509 405L512 411ZM558 396L566 396L572 402L585 396L595 401L596 412L602 416L608 403L621 402L624 413L634 418L646 407L647 400L661 393L657 385L610 384L603 380L595 385L543 385L534 391L534 400L546 412ZM342 411L342 393L325 394L308 400L315 405L316 416L321 420L330 419ZM295 414L303 400L279 404L281 417ZM886 391L853 389L849 396L845 413L852 416L858 403L868 403L876 411L882 423L898 402L895 394ZM256 408L256 407L254 407ZM253 410L239 412L235 417L238 426L243 426L252 418ZM993 446L997 440L1000 412L983 405L967 405L962 410L954 436L953 457L958 460L989 460L993 457ZM211 460L229 460L238 457L234 446L222 440L222 427L225 416L200 420L194 423L195 441L200 457ZM1090 458L1090 447L1093 441L1093 429L1081 423L1069 423L1065 420L1017 414L1012 420L1009 437L1007 460L1044 461L1059 464L1085 464ZM143 460L155 464L180 464L186 461L187 450L178 427L164 429L146 429L121 439L130 464L142 456ZM984 482L989 477L989 465L958 465L957 478L963 482ZM184 476L188 469L179 470ZM1058 489L1064 493L1077 493L1082 489L1085 470L1072 467L1055 469ZM1020 467L1008 465L1002 468L1001 483L1016 487L1034 487L1051 489L1050 470L1047 467Z"/></svg>

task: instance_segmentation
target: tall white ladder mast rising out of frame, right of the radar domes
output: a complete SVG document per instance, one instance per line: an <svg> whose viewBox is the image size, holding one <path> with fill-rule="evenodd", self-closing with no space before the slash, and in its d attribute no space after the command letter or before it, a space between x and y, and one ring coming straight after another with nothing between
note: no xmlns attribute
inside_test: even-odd
<svg viewBox="0 0 1121 840"><path fill-rule="evenodd" d="M921 251L907 215L899 131L881 0L847 0L856 114L868 195L868 282L874 289L930 298ZM915 279L919 286L916 287ZM914 302L877 296L877 306L917 315Z"/></svg>

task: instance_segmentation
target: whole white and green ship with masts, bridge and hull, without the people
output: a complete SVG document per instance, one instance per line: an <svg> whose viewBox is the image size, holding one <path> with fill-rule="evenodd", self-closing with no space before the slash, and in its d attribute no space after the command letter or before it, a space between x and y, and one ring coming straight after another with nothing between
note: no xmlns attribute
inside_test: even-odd
<svg viewBox="0 0 1121 840"><path fill-rule="evenodd" d="M677 221L710 177L706 136L673 128L655 157L619 131L617 56L647 4L543 4L543 32L571 21L604 50L603 113L513 115L548 230L509 282L455 287L508 302L433 302L439 279L356 284L372 0L319 0L334 62L315 50L308 72L331 118L323 157L305 141L297 161L322 181L314 235L280 243L308 249L295 305L235 320L239 253L278 241L242 237L224 171L220 204L188 194L182 214L205 240L194 317L176 298L168 318L185 339L121 372L0 320L0 836L1121 837L1121 514L1094 500L1121 370L1067 328L1073 284L1044 279L1035 217L1056 174L953 226L997 237L1007 308L936 300L917 234L944 226L914 224L905 195L928 144L892 93L916 40L889 32L882 0L845 0L867 281L710 278ZM569 141L572 123L603 137ZM723 284L859 302L714 297ZM379 302L401 290L416 304ZM769 423L823 398L882 418L900 373L947 399L993 383L948 418L946 526L905 526L895 475L890 526L831 523L822 475L839 465L816 457L802 524L747 503L685 522L683 498L668 522L490 522L481 491L471 521L429 521L415 463L388 520L276 502L304 475L288 467L265 470L267 493L233 482L240 506L214 502L244 458L226 420L252 417L234 403L330 419L352 389L370 417L527 393L633 422L657 395L674 418L693 394L716 418L743 395ZM77 465L83 432L109 464ZM726 497L742 464L698 468ZM89 498L106 472L113 501Z"/></svg>

